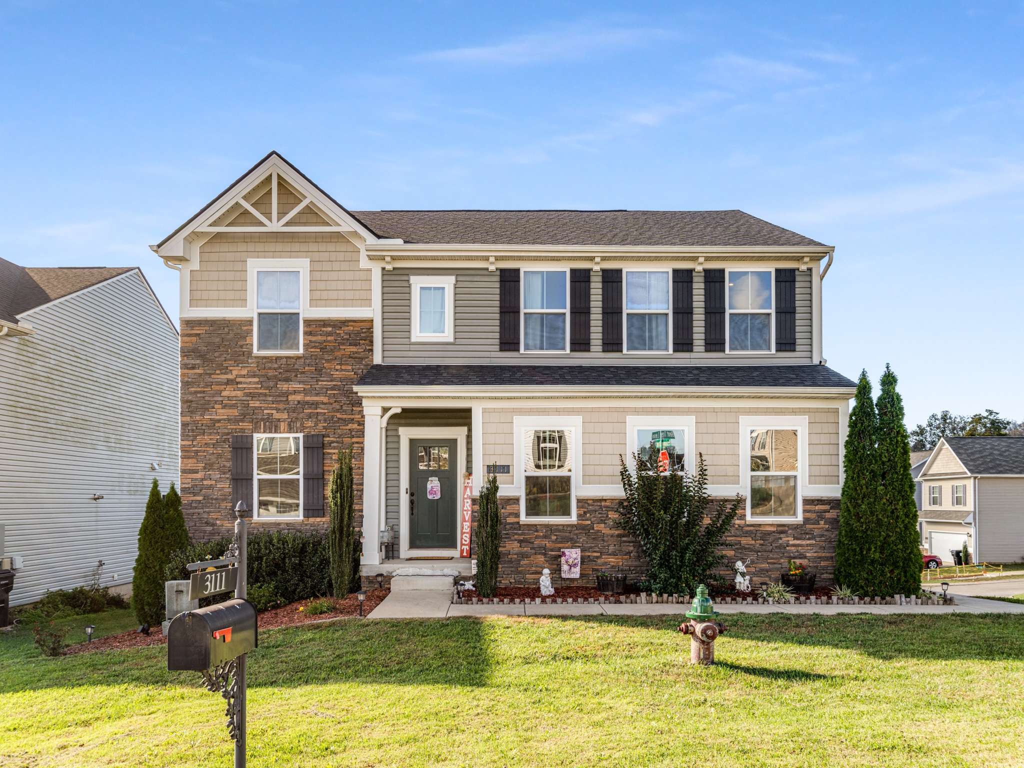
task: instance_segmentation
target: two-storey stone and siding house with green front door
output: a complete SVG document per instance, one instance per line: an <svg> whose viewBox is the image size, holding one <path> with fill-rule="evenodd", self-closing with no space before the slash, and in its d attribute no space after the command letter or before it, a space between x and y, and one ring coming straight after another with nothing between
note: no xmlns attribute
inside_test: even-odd
<svg viewBox="0 0 1024 768"><path fill-rule="evenodd" d="M239 501L323 529L350 445L365 574L466 571L460 484L490 471L503 583L574 548L635 578L620 457L653 443L742 498L730 558L831 579L855 386L821 351L830 246L741 211L349 211L270 153L153 250L181 270L194 536Z"/></svg>

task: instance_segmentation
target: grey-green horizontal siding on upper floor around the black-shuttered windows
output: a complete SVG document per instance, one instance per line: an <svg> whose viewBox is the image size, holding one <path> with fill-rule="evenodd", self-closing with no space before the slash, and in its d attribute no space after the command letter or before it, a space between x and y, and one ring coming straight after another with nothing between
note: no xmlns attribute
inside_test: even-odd
<svg viewBox="0 0 1024 768"><path fill-rule="evenodd" d="M652 262L652 265L654 262ZM582 264L571 264L581 267ZM609 267L610 268L610 267ZM665 265L671 269L672 265ZM752 268L755 268L752 266ZM412 343L410 275L455 275L455 341ZM314 282L315 284L315 282ZM703 275L693 280L693 352L663 355L624 354L601 351L601 273L591 271L590 352L522 353L499 350L499 272L486 267L453 269L395 268L383 273L383 361L415 365L473 362L594 362L656 365L699 362L701 365L764 365L766 362L811 362L811 272L797 271L797 351L774 354L727 354L703 351ZM671 322L671 318L670 318ZM568 328L568 323L566 323Z"/></svg>

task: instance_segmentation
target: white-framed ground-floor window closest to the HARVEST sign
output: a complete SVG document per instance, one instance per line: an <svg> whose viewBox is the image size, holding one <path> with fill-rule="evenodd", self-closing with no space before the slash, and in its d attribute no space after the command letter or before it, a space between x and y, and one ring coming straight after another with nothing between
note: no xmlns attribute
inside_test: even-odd
<svg viewBox="0 0 1024 768"><path fill-rule="evenodd" d="M571 427L523 429L522 519L572 519L573 440Z"/></svg>

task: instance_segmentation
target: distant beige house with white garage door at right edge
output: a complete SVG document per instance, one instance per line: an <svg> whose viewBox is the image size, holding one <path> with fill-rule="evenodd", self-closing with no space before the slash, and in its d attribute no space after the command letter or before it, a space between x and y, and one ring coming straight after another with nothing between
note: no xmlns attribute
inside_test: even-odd
<svg viewBox="0 0 1024 768"><path fill-rule="evenodd" d="M1024 559L1024 437L943 437L921 467L924 546L945 562Z"/></svg>

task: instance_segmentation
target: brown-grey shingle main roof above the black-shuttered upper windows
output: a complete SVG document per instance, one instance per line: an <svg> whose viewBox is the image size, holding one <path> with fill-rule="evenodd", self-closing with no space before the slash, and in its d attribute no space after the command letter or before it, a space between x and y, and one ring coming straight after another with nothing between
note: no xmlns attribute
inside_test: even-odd
<svg viewBox="0 0 1024 768"><path fill-rule="evenodd" d="M553 246L821 246L742 211L352 211L407 243Z"/></svg>

